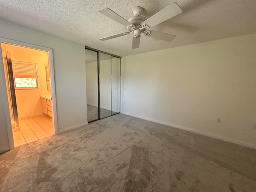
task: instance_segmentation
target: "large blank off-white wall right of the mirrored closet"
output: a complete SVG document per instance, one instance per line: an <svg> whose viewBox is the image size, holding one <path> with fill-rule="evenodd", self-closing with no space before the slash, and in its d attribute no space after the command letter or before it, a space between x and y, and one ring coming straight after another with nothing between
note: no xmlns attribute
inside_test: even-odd
<svg viewBox="0 0 256 192"><path fill-rule="evenodd" d="M121 63L122 113L256 147L256 34Z"/></svg>

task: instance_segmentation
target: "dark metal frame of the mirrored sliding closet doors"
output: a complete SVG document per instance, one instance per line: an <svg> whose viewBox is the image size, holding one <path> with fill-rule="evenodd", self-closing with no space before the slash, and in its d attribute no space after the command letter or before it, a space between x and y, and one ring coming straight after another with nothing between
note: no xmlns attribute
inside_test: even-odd
<svg viewBox="0 0 256 192"><path fill-rule="evenodd" d="M107 53L107 52L103 52L103 51L100 51L100 50L97 50L97 49L94 49L94 48L90 48L88 46L85 46L85 49L97 52L97 64L98 64L98 119L97 120L104 119L104 118L112 116L112 57L119 58L119 112L115 113L113 115L119 114L120 111L121 111L121 58L122 57L114 55L114 54L110 54L110 53ZM111 113L110 113L110 116L106 116L106 117L103 117L103 118L100 118L100 53L110 55L110 92L111 92L111 95L110 95L110 112ZM92 120L90 122L94 122L94 121L97 121L97 120ZM90 123L90 122L88 122L88 123Z"/></svg>

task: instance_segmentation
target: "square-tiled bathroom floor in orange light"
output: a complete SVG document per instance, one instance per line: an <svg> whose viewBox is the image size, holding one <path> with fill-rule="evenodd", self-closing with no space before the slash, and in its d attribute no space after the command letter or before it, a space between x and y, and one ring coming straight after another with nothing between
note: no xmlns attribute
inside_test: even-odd
<svg viewBox="0 0 256 192"><path fill-rule="evenodd" d="M20 131L13 132L14 146L53 135L52 118L42 116L19 121Z"/></svg>

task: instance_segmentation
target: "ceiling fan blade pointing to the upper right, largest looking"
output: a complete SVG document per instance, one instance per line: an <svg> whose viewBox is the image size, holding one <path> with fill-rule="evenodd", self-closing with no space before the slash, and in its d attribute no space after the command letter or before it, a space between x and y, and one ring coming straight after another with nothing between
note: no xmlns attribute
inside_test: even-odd
<svg viewBox="0 0 256 192"><path fill-rule="evenodd" d="M146 21L142 22L142 25L146 24L149 27L154 27L157 24L160 24L180 13L182 13L182 9L180 8L180 6L178 6L176 2L173 2L166 8L163 8L162 10L148 18Z"/></svg>

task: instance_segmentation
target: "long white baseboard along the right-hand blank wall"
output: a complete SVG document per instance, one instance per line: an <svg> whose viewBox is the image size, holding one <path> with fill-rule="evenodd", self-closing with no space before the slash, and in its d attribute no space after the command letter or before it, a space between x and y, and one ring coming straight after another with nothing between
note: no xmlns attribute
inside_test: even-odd
<svg viewBox="0 0 256 192"><path fill-rule="evenodd" d="M251 143L246 143L246 142L239 141L239 140L236 140L236 139L227 138L227 137L223 137L223 136L219 136L219 135L214 135L214 134L211 134L211 133L207 133L207 132L203 132L203 131L198 131L198 130L191 129L191 128L188 128L188 127L179 126L179 125L175 125L175 124L170 124L170 123L158 121L158 120L155 120L155 119L150 119L150 118L146 118L146 117L142 117L142 116L137 116L137 115L125 113L125 112L122 112L122 111L121 111L121 113L125 114L125 115L129 115L129 116L137 117L137 118L140 118L140 119L144 119L144 120L160 123L160 124L163 124L163 125L171 126L171 127L174 127L174 128L186 130L186 131L189 131L189 132L197 133L197 134L200 134L200 135L212 137L212 138L219 139L219 140L222 140L222 141L227 141L227 142L230 142L230 143L234 143L234 144L238 144L238 145L242 145L242 146L246 146L246 147L250 147L250 148L256 149L256 145L251 144Z"/></svg>

